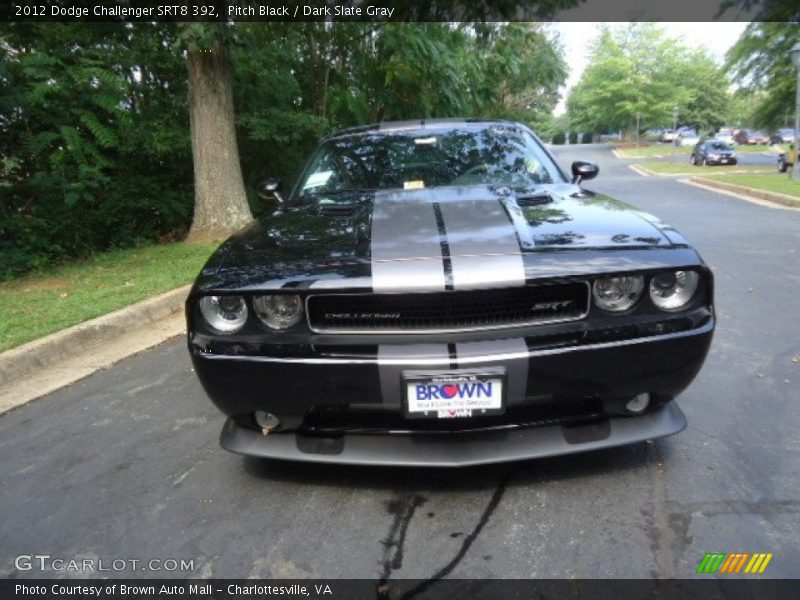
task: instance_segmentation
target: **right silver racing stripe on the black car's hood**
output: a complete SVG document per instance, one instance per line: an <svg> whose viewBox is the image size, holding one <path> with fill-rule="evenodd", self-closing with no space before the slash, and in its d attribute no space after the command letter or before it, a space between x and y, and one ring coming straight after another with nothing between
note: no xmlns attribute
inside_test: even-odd
<svg viewBox="0 0 800 600"><path fill-rule="evenodd" d="M439 203L456 290L525 285L517 229L498 201Z"/></svg>

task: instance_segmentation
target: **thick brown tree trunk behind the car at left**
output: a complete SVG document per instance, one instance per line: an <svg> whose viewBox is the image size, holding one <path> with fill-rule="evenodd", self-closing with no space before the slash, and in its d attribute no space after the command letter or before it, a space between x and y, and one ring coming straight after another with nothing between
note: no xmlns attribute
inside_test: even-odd
<svg viewBox="0 0 800 600"><path fill-rule="evenodd" d="M233 113L233 72L223 41L189 52L194 219L189 241L227 237L253 220L242 180Z"/></svg>

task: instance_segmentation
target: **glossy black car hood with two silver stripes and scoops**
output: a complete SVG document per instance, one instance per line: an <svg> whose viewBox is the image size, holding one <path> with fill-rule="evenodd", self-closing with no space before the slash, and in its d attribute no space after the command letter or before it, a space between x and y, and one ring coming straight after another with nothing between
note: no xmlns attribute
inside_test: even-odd
<svg viewBox="0 0 800 600"><path fill-rule="evenodd" d="M391 272L398 289L435 289L448 268L456 283L507 283L500 280L511 262L523 263L519 257L684 243L655 217L571 184L525 193L492 186L378 191L315 199L257 221L229 239L203 274L215 280L212 287L342 277L373 287Z"/></svg>

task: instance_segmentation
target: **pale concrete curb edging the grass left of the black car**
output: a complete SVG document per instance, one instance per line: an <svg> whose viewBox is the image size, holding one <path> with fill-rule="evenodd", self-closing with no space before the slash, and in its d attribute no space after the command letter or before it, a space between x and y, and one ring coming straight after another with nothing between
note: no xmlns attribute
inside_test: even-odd
<svg viewBox="0 0 800 600"><path fill-rule="evenodd" d="M66 358L183 311L190 289L190 285L185 285L3 352L0 354L0 386L18 382Z"/></svg>

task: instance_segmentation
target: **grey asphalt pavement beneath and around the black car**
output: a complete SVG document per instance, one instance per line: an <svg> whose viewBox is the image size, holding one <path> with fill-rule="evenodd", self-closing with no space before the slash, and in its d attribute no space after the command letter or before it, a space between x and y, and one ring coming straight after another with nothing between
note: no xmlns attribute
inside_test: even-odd
<svg viewBox="0 0 800 600"><path fill-rule="evenodd" d="M588 188L674 225L716 274L684 432L464 470L245 460L219 448L179 339L0 417L0 576L79 575L15 568L39 553L193 561L95 576L683 578L706 552L771 552L764 577L800 577L800 211L556 151L598 162Z"/></svg>

